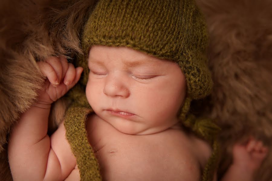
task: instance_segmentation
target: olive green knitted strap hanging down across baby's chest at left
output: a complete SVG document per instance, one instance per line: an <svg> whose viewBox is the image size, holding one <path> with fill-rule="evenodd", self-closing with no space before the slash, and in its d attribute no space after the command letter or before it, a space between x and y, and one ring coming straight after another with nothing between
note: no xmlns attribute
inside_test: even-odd
<svg viewBox="0 0 272 181"><path fill-rule="evenodd" d="M66 138L76 157L80 180L101 181L98 160L89 144L86 132L86 120L93 110L86 100L84 89L79 85L68 92L68 96L73 100L73 104L66 112L64 126Z"/></svg>

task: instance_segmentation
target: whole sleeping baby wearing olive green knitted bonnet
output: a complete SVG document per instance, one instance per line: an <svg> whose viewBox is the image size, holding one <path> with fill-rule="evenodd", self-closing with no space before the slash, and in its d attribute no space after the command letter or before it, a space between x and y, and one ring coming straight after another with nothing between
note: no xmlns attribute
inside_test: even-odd
<svg viewBox="0 0 272 181"><path fill-rule="evenodd" d="M189 111L212 89L206 46L205 21L191 0L97 2L83 28L84 55L74 64L62 56L37 62L46 81L11 131L13 179L96 178L81 126L103 180L216 180L219 129ZM51 104L70 89L78 109L68 109L49 136ZM254 139L236 145L223 180L253 180L266 153Z"/></svg>

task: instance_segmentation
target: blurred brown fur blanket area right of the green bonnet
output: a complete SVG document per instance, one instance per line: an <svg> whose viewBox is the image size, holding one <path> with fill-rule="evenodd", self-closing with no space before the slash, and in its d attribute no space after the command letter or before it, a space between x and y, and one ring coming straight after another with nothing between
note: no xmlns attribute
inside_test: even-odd
<svg viewBox="0 0 272 181"><path fill-rule="evenodd" d="M205 114L222 127L219 177L231 163L232 145L253 135L270 148L256 175L256 180L268 181L272 178L272 3L203 0L199 6L208 23L215 86Z"/></svg>

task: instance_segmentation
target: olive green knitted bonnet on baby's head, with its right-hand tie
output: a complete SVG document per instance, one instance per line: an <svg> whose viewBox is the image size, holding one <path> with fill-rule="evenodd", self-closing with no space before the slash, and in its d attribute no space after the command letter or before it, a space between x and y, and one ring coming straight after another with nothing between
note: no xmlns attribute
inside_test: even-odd
<svg viewBox="0 0 272 181"><path fill-rule="evenodd" d="M83 29L84 56L75 64L84 68L80 83L86 85L89 74L87 59L93 45L125 46L176 62L186 78L186 100L179 118L196 134L215 144L211 137L218 130L216 125L208 119L197 122L195 116L188 114L191 100L206 97L212 89L207 67L207 44L205 20L193 0L100 0ZM72 90L70 95L73 94L75 91ZM86 100L83 102L88 104ZM67 124L66 131L73 122L69 126ZM205 128L199 129L201 127ZM213 145L213 149L216 151L217 145ZM215 167L217 157L217 153L213 154L210 165L204 170L203 180L211 178L208 172Z"/></svg>

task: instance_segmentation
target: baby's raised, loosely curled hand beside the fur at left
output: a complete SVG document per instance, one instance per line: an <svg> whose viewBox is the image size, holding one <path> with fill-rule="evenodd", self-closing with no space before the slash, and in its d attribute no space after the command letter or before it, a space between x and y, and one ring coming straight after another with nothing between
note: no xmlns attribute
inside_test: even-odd
<svg viewBox="0 0 272 181"><path fill-rule="evenodd" d="M40 71L47 77L39 92L39 104L51 104L62 97L80 78L82 67L75 68L64 57L50 57L37 63Z"/></svg>

